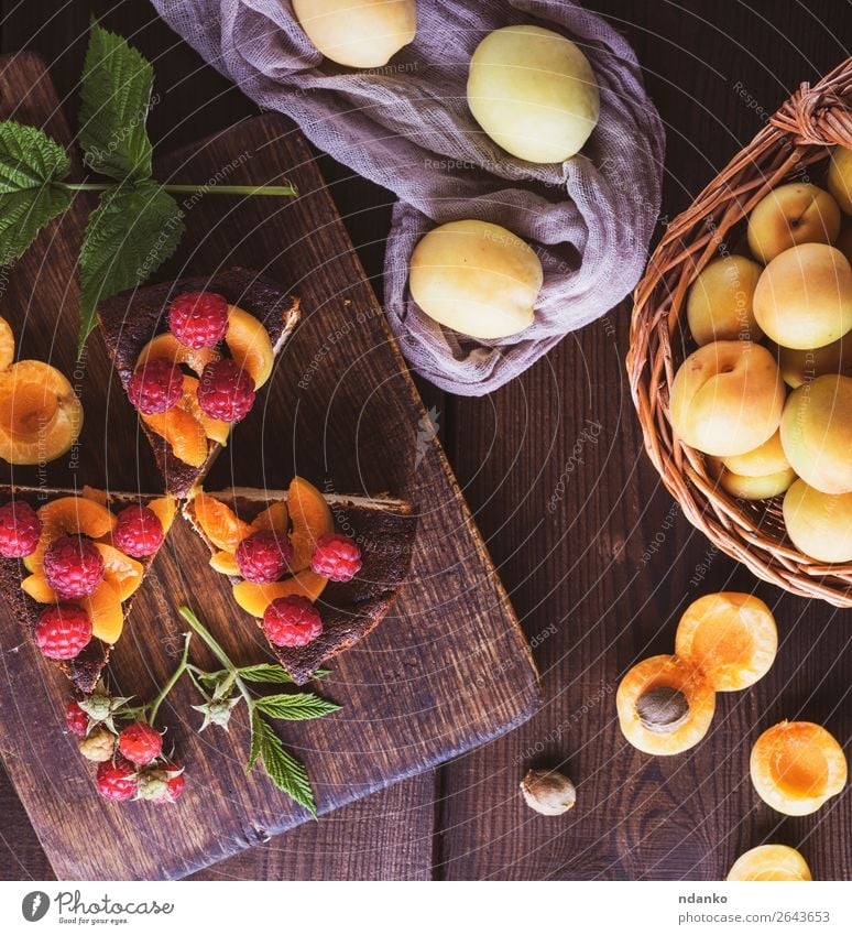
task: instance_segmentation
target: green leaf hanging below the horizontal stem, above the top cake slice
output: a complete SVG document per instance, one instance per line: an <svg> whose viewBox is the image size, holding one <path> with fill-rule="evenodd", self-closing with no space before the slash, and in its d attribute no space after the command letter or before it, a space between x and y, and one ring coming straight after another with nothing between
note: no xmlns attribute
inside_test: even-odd
<svg viewBox="0 0 852 935"><path fill-rule="evenodd" d="M80 251L80 352L98 303L144 282L174 253L183 232L184 213L156 182L103 193L89 215Z"/></svg>

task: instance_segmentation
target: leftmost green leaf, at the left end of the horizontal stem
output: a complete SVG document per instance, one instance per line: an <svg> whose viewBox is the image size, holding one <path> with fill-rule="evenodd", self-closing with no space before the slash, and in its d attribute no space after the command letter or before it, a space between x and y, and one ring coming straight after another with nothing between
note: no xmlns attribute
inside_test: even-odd
<svg viewBox="0 0 852 935"><path fill-rule="evenodd" d="M35 127L0 122L0 264L22 257L39 231L70 205L57 185L70 171L65 150Z"/></svg>

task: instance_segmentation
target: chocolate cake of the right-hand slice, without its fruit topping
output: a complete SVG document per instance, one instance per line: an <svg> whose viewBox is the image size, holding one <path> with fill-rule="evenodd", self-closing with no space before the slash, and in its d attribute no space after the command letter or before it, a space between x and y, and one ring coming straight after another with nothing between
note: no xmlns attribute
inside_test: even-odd
<svg viewBox="0 0 852 935"><path fill-rule="evenodd" d="M284 490L244 487L207 496L227 503L248 523L270 504L288 500L288 492ZM384 494L375 498L324 496L335 526L351 536L361 550L362 566L349 581L328 581L314 600L323 620L323 632L315 640L305 646L277 646L270 642L273 654L297 685L308 682L324 663L363 639L382 621L411 570L417 531L417 518L404 500ZM199 522L195 499L184 504L184 515L211 555L218 554L218 545ZM228 577L232 585L242 581L238 575ZM262 629L261 617L254 616Z"/></svg>

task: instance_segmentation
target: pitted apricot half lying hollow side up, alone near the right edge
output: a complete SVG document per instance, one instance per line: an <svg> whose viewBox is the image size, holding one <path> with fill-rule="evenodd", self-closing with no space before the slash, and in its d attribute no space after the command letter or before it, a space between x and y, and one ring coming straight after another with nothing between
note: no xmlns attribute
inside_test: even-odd
<svg viewBox="0 0 852 935"><path fill-rule="evenodd" d="M818 724L784 720L752 748L751 774L757 795L783 815L810 815L846 784L846 758Z"/></svg>

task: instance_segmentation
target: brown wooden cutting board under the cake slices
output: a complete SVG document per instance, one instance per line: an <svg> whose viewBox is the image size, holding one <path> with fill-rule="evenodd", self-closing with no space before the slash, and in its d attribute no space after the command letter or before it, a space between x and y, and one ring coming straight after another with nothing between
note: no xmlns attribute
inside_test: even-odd
<svg viewBox="0 0 852 935"><path fill-rule="evenodd" d="M41 59L2 58L0 117L70 133ZM162 106L167 106L164 102ZM176 153L161 181L215 187L295 183L295 200L206 194L187 198L179 256L155 279L229 265L265 271L302 297L304 323L280 358L262 403L241 423L208 483L281 487L298 472L320 487L391 491L416 504L419 531L409 581L363 643L332 664L323 693L343 705L280 729L307 764L321 814L470 750L526 720L540 698L517 620L472 523L403 359L343 225L294 126L265 115ZM3 480L112 490L162 485L99 335L75 361L75 261L89 205L83 199L4 271L0 314L23 356L47 359L79 387L79 449L43 468L2 465ZM151 697L174 667L188 602L237 661L267 657L254 622L204 544L177 521L139 592L116 648L113 686ZM242 763L242 713L230 735L197 735L198 702L181 685L159 720L186 764L187 791L172 808L99 798L92 770L63 731L69 685L0 607L0 747L47 856L63 879L177 878L307 819ZM212 661L199 645L199 664Z"/></svg>

